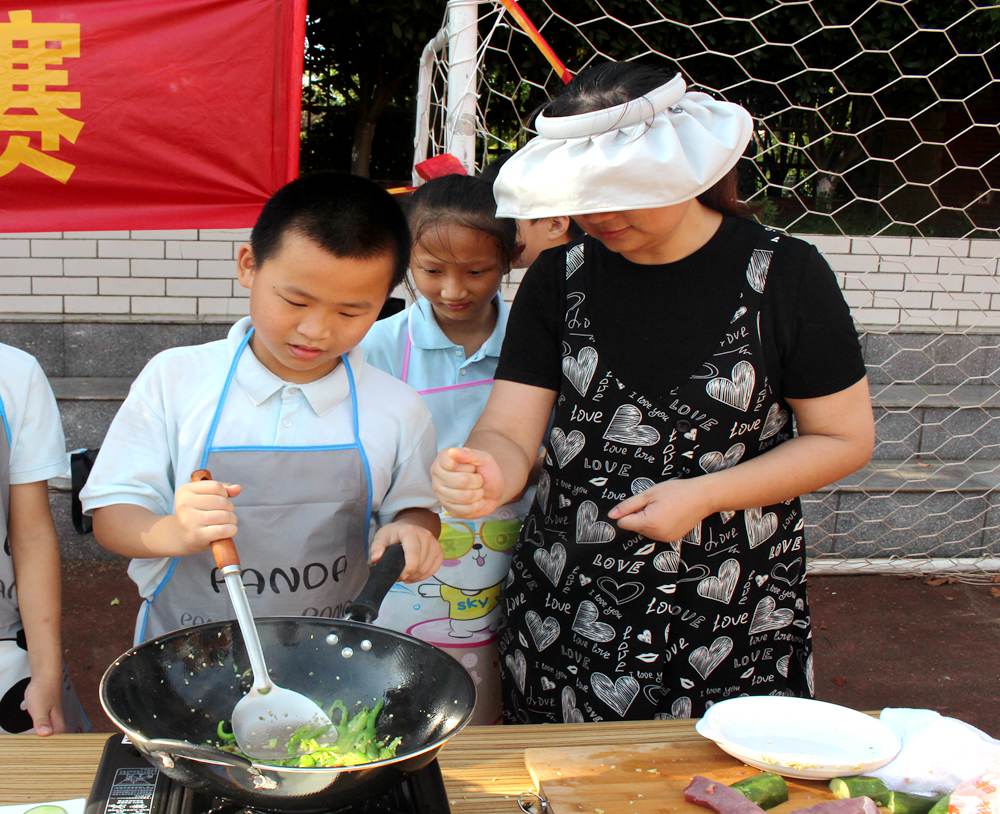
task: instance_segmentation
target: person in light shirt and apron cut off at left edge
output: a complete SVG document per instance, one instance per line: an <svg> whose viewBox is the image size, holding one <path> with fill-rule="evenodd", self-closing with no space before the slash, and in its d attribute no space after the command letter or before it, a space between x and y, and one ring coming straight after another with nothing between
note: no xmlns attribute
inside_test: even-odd
<svg viewBox="0 0 1000 814"><path fill-rule="evenodd" d="M33 356L0 344L0 732L89 728L62 666L59 540L47 481L65 469L45 374Z"/></svg>

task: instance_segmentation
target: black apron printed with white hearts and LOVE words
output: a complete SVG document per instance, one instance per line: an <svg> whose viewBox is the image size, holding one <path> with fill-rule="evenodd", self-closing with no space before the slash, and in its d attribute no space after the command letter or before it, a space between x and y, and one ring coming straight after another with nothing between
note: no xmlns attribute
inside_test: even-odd
<svg viewBox="0 0 1000 814"><path fill-rule="evenodd" d="M738 695L813 694L798 499L710 515L679 550L607 520L654 483L734 466L791 437L760 337L779 239L762 231L715 352L662 396L636 391L601 358L584 244L567 252L562 383L504 590L507 722L688 718Z"/></svg>

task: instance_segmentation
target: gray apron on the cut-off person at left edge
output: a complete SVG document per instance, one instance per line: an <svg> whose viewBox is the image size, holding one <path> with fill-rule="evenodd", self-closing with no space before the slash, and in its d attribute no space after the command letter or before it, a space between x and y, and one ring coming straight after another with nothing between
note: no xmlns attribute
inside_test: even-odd
<svg viewBox="0 0 1000 814"><path fill-rule="evenodd" d="M22 709L24 691L31 681L28 644L21 628L14 584L14 560L7 537L10 517L10 423L0 399L0 734L24 734L34 731L31 716ZM63 667L63 721L67 732L85 732L90 721L73 691L69 674Z"/></svg>

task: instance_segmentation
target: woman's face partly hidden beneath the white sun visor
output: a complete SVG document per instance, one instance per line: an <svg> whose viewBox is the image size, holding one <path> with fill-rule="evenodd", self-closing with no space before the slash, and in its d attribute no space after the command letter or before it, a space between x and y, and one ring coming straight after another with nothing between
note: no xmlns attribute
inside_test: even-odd
<svg viewBox="0 0 1000 814"><path fill-rule="evenodd" d="M574 215L580 228L609 251L633 263L663 263L665 246L676 240L678 227L690 214L693 201L653 209L623 209Z"/></svg>

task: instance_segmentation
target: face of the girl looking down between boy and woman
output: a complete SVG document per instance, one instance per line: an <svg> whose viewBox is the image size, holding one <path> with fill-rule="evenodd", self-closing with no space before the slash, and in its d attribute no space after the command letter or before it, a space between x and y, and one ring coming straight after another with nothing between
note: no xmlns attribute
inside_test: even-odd
<svg viewBox="0 0 1000 814"><path fill-rule="evenodd" d="M454 223L429 227L413 247L410 271L445 330L492 323L503 266L486 232Z"/></svg>

